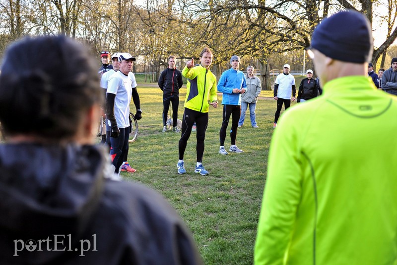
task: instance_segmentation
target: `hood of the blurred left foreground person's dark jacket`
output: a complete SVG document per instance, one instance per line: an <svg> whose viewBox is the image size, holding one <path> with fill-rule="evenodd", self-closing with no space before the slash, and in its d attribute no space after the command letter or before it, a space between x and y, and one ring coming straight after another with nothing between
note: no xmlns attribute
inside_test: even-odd
<svg viewBox="0 0 397 265"><path fill-rule="evenodd" d="M99 146L0 145L1 229L21 239L81 235L110 170L106 158Z"/></svg>

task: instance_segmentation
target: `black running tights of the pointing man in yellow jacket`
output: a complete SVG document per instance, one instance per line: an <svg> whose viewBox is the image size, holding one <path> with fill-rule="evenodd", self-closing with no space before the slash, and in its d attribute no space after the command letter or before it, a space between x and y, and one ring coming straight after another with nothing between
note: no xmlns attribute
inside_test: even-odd
<svg viewBox="0 0 397 265"><path fill-rule="evenodd" d="M208 112L203 113L196 110L192 110L189 108L185 108L182 119L182 134L181 139L179 139L179 159L183 160L186 145L188 143L190 134L192 133L193 124L196 122L196 153L197 153L197 162L202 162L202 156L204 155L204 139L205 139L205 131L208 126Z"/></svg>

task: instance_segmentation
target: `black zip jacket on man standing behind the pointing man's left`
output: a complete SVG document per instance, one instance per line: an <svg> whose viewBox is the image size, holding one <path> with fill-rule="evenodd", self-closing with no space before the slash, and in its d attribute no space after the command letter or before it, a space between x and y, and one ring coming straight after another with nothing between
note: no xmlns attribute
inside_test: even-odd
<svg viewBox="0 0 397 265"><path fill-rule="evenodd" d="M167 95L179 94L179 88L182 88L182 85L181 71L176 68L170 69L167 67L167 69L161 72L158 79L158 86Z"/></svg>

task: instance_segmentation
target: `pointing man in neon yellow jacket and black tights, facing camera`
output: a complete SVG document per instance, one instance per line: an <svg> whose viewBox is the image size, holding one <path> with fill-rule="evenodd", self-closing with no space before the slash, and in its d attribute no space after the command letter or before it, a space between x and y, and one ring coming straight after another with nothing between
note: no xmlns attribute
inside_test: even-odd
<svg viewBox="0 0 397 265"><path fill-rule="evenodd" d="M178 174L185 174L185 162L183 160L186 145L192 132L193 124L197 126L197 162L195 173L208 175L208 171L202 166L204 154L205 130L208 126L209 105L218 106L216 94L216 77L209 71L213 55L209 48L204 48L200 53L200 65L195 67L194 59L187 63L182 70L182 75L188 79L185 110L182 120L182 134L178 143L179 160L177 163Z"/></svg>

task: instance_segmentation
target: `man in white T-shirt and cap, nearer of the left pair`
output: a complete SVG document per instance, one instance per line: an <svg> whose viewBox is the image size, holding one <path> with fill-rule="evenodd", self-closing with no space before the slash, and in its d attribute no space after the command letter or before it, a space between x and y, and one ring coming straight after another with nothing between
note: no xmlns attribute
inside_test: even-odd
<svg viewBox="0 0 397 265"><path fill-rule="evenodd" d="M106 91L106 117L111 127L110 157L117 174L123 161L127 161L131 98L136 107L135 118L142 117L135 76L131 72L134 61L135 58L129 53L119 54L120 70L110 77Z"/></svg>

